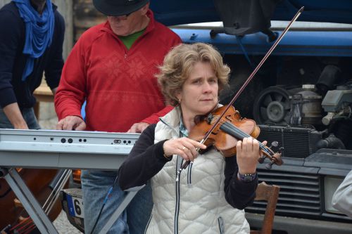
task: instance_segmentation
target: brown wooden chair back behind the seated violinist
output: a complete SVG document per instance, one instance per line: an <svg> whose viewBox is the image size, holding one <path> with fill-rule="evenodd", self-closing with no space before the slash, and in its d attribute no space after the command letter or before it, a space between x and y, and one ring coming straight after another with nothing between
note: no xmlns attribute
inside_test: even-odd
<svg viewBox="0 0 352 234"><path fill-rule="evenodd" d="M251 234L271 234L279 190L279 186L270 186L265 182L258 184L256 198L254 200L265 200L268 203L266 205L261 230L251 230Z"/></svg>

